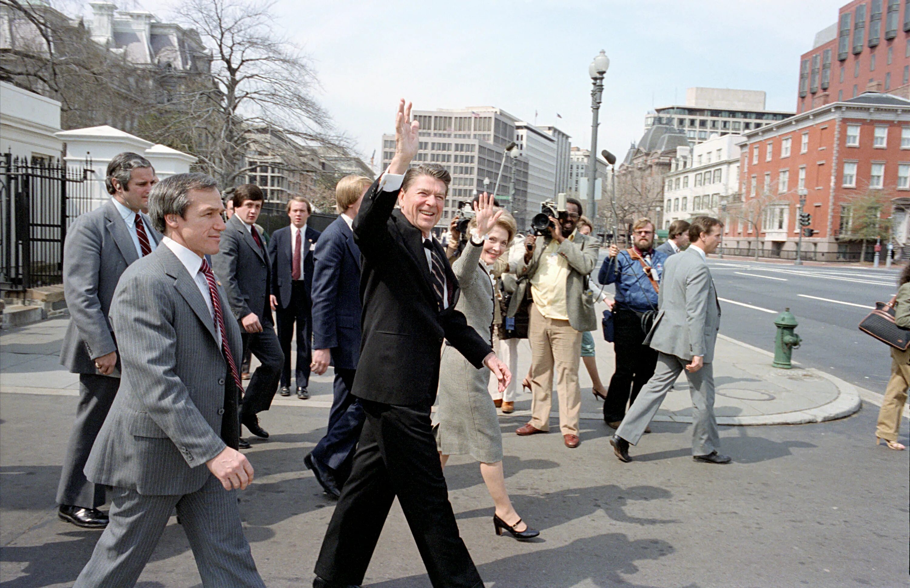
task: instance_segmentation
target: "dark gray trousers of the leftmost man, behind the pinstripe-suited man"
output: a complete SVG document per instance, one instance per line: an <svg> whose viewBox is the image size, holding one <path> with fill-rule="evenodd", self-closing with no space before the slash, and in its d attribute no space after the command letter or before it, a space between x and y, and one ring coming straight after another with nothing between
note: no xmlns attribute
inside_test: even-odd
<svg viewBox="0 0 910 588"><path fill-rule="evenodd" d="M66 446L66 457L57 486L57 504L94 509L106 501L106 488L86 480L83 468L88 454L114 403L120 379L97 374L79 374L79 404Z"/></svg>

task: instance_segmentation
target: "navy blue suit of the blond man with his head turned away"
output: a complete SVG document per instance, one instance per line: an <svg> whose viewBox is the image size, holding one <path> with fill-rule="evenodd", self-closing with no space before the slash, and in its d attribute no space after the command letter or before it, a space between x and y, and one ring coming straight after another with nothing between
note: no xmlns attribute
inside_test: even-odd
<svg viewBox="0 0 910 588"><path fill-rule="evenodd" d="M344 218L316 244L313 270L313 348L331 350L335 397L329 428L311 456L332 470L339 487L348 478L364 414L350 394L360 357L360 249Z"/></svg>

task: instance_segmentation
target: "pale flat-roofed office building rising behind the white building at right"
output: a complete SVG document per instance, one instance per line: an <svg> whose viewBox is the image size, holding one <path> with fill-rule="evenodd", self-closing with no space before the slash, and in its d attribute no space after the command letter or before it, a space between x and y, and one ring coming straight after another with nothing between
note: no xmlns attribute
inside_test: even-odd
<svg viewBox="0 0 910 588"><path fill-rule="evenodd" d="M738 135L792 117L792 112L765 110L764 92L691 87L684 105L655 108L644 117L644 128L666 125L682 130L690 145L713 135Z"/></svg>

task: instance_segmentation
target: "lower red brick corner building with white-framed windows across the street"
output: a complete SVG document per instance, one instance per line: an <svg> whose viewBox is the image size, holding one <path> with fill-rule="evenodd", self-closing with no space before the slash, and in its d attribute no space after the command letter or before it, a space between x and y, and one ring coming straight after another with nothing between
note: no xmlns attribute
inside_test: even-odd
<svg viewBox="0 0 910 588"><path fill-rule="evenodd" d="M740 193L722 215L725 252L757 247L792 259L801 189L816 231L803 239L807 259L855 257L861 243L850 234L851 207L868 194L885 202L895 247L910 245L910 100L867 92L743 137Z"/></svg>

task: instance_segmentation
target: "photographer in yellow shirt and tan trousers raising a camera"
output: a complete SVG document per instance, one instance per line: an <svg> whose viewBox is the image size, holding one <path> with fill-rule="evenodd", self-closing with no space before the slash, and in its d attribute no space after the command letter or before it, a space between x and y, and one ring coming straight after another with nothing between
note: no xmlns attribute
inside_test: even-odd
<svg viewBox="0 0 910 588"><path fill-rule="evenodd" d="M597 263L597 239L575 230L581 202L567 198L565 209L544 202L531 220L517 275L531 284L528 341L531 343L531 421L515 431L550 430L553 376L560 402L560 430L566 447L579 445L581 388L578 383L581 333L597 328L589 274ZM538 239L541 243L538 243ZM520 297L521 298L521 297Z"/></svg>

